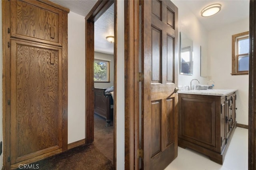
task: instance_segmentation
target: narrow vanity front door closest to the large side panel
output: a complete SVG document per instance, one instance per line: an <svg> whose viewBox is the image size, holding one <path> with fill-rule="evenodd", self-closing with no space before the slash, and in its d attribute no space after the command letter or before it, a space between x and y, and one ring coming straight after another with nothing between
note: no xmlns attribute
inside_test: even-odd
<svg viewBox="0 0 256 170"><path fill-rule="evenodd" d="M226 99L223 98L220 101L220 140L221 140L221 150L226 144Z"/></svg>

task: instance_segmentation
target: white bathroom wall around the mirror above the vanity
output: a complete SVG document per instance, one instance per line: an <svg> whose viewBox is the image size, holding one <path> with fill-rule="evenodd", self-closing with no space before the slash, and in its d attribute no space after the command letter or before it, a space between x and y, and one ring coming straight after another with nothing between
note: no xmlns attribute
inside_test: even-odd
<svg viewBox="0 0 256 170"><path fill-rule="evenodd" d="M207 84L207 81L209 79L207 77L200 77L200 45L202 46L202 49L207 53L208 32L204 28L204 26L198 21L196 16L186 6L185 1L172 0L172 2L178 7L179 32L186 34L188 38L193 40L194 45L193 75L190 76L179 74L178 85L190 85L190 81L192 79L198 79L200 81L200 84Z"/></svg>

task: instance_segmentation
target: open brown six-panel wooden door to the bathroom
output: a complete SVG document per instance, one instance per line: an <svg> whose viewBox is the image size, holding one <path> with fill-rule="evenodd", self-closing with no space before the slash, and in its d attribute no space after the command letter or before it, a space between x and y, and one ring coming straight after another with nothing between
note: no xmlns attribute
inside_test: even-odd
<svg viewBox="0 0 256 170"><path fill-rule="evenodd" d="M178 8L142 1L143 168L164 169L178 148Z"/></svg>

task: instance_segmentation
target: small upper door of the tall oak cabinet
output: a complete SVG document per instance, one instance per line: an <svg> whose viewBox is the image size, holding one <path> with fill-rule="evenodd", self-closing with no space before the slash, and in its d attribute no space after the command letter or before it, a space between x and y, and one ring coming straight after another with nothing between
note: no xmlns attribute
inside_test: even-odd
<svg viewBox="0 0 256 170"><path fill-rule="evenodd" d="M33 3L33 4L32 4ZM62 45L62 11L38 1L11 1L11 36Z"/></svg>

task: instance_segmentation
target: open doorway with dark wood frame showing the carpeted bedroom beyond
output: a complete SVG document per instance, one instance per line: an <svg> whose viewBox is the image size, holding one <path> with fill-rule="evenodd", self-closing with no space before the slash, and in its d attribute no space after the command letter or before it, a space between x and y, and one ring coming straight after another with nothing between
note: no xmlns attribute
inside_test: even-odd
<svg viewBox="0 0 256 170"><path fill-rule="evenodd" d="M116 2L98 1L85 20L86 143L93 143L116 167L116 42L106 40L116 39Z"/></svg>

